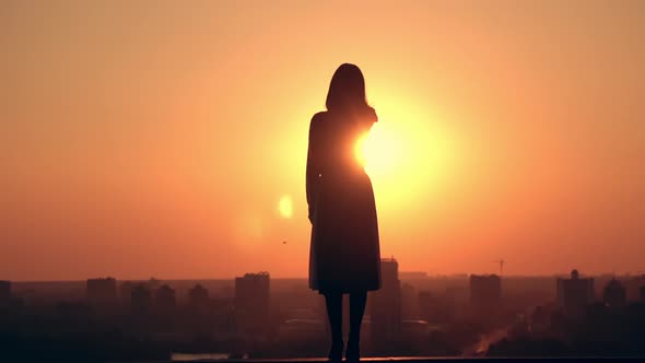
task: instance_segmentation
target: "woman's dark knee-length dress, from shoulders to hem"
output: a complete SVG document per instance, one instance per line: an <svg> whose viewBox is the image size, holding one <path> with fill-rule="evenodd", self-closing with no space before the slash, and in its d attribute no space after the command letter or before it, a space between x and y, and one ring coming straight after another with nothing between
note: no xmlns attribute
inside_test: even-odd
<svg viewBox="0 0 645 363"><path fill-rule="evenodd" d="M360 119L318 113L309 126L309 288L320 293L380 288L374 190L355 156L356 140L376 121L376 114L370 110Z"/></svg>

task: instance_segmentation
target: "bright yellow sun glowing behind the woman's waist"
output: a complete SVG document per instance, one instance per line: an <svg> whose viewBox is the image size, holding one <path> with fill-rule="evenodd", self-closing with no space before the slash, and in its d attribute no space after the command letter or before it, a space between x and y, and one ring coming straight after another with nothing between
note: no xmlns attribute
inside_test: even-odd
<svg viewBox="0 0 645 363"><path fill-rule="evenodd" d="M355 141L355 159L370 175L379 210L418 207L454 180L457 139L441 115L402 101L383 102L377 109L378 121Z"/></svg>

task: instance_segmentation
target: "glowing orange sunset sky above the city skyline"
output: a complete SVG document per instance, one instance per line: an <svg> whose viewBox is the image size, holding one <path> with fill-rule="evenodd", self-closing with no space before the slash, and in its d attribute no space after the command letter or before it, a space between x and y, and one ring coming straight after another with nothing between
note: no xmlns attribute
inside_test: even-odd
<svg viewBox="0 0 645 363"><path fill-rule="evenodd" d="M325 3L0 2L0 279L305 277L344 61L402 270L645 270L644 1Z"/></svg>

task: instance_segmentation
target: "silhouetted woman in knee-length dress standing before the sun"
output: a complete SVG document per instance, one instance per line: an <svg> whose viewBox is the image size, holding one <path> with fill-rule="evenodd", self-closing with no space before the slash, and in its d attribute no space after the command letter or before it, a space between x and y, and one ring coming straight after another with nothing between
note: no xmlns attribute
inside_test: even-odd
<svg viewBox="0 0 645 363"><path fill-rule="evenodd" d="M309 286L325 295L331 327L329 359L342 359L342 294L350 294L345 358L360 359L367 291L380 286L380 253L374 191L355 145L376 122L359 67L341 65L327 93L327 112L312 118L306 189L312 222Z"/></svg>

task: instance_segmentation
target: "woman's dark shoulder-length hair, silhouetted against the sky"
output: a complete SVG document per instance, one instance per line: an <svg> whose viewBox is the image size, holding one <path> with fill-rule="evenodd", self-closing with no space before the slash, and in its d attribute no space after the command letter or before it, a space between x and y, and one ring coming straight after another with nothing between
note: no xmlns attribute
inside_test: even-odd
<svg viewBox="0 0 645 363"><path fill-rule="evenodd" d="M367 116L370 121L376 121L376 113L365 96L365 78L355 65L342 63L333 72L325 105L330 112L350 113L361 118Z"/></svg>

